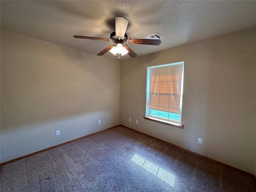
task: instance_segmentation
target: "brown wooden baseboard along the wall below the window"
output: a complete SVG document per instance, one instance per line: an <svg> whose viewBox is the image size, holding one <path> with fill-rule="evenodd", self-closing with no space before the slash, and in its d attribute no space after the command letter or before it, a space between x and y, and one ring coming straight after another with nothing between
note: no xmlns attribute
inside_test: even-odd
<svg viewBox="0 0 256 192"><path fill-rule="evenodd" d="M233 170L236 170L236 171L238 171L238 172L240 172L240 173L246 174L246 175L252 177L252 179L254 180L254 183L255 183L255 185L256 185L256 175L254 175L254 174L252 174L252 173L249 173L249 172L246 172L246 171L244 171L244 170L235 168L235 167L230 166L230 165L228 165L228 164L222 163L222 162L220 162L220 161L214 160L214 159L209 158L209 157L207 157L207 156L204 156L204 155L198 154L198 153L196 153L196 152L190 151L190 150L188 150L188 149L182 148L182 147L180 147L180 146L174 145L174 144L169 143L169 142L167 142L167 141L164 141L164 140L155 138L155 137L153 137L153 136L151 136L151 135L148 135L148 134L146 134L146 133L142 133L142 132L140 132L140 131L138 131L138 130L135 130L135 129L132 129L132 128L130 128L130 127L127 127L127 126L124 126L124 125L120 125L120 126L122 126L122 127L124 127L124 128L128 128L128 129L134 130L134 131L139 132L139 133L141 133L141 134L144 134L144 135L146 135L146 136L150 136L150 137L152 137L152 138L154 138L154 139L160 140L160 141L162 141L162 142L165 142L165 143L167 143L167 144L170 144L171 146L174 146L174 147L176 147L176 148L179 148L180 150L186 151L186 152L191 153L191 154L194 154L194 155L196 155L196 156L200 156L200 157L205 158L205 159L207 159L207 160L216 162L216 163L218 163L218 164L221 164L221 165L223 165L223 166L226 166L226 167L228 167L228 168L231 168L231 169L233 169Z"/></svg>

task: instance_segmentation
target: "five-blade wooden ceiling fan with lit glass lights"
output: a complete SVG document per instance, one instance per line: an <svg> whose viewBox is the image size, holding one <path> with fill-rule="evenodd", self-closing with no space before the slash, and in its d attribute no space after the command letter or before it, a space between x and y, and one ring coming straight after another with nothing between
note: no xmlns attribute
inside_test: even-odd
<svg viewBox="0 0 256 192"><path fill-rule="evenodd" d="M160 45L160 39L128 39L126 32L126 28L128 26L129 20L122 17L116 16L116 31L110 34L110 39L100 38L100 37L88 37L88 36L80 36L74 35L74 38L79 39L94 39L94 40L103 40L103 41L111 41L114 44L107 46L104 50L99 52L97 55L104 55L106 52L111 52L115 56L118 54L118 59L120 59L120 54L123 56L128 54L131 58L137 56L137 54L127 45L128 44L143 44L143 45Z"/></svg>

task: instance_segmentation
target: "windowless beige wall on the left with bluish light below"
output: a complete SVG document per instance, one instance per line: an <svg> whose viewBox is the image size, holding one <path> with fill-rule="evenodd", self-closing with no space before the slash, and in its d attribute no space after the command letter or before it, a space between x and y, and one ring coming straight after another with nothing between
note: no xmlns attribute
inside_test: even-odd
<svg viewBox="0 0 256 192"><path fill-rule="evenodd" d="M1 30L1 162L118 124L118 61Z"/></svg>

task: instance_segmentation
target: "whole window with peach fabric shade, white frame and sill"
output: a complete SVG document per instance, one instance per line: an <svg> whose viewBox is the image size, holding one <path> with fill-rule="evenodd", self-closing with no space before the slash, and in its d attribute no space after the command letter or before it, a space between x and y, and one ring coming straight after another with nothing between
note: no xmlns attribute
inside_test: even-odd
<svg viewBox="0 0 256 192"><path fill-rule="evenodd" d="M145 119L181 125L184 62L147 68Z"/></svg>

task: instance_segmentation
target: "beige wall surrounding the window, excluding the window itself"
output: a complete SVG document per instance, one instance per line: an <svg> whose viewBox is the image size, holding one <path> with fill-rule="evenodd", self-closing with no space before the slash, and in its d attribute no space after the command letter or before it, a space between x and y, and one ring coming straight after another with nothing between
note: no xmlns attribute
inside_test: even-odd
<svg viewBox="0 0 256 192"><path fill-rule="evenodd" d="M121 124L256 174L255 32L243 30L122 61ZM179 61L184 61L184 129L144 120L146 67Z"/></svg>

